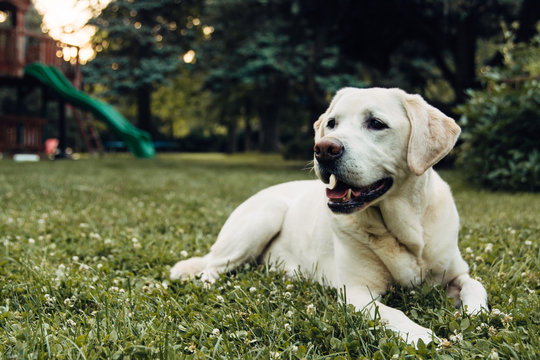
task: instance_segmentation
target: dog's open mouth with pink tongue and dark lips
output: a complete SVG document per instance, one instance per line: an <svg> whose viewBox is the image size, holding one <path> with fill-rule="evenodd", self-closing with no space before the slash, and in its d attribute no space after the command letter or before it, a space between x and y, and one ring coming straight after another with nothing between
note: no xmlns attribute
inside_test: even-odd
<svg viewBox="0 0 540 360"><path fill-rule="evenodd" d="M386 193L393 183L392 178L388 177L367 186L354 187L338 180L332 174L326 189L328 207L335 213L344 214L362 210Z"/></svg>

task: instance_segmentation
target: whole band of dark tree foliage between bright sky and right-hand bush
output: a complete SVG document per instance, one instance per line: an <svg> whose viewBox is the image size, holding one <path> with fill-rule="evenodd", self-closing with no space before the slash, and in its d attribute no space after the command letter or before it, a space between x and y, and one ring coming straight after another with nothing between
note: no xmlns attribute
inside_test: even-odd
<svg viewBox="0 0 540 360"><path fill-rule="evenodd" d="M165 123L156 126L170 136L204 128L226 133L230 152L309 157L311 125L344 86L401 87L451 112L467 89L482 86L482 66L503 62L492 45L502 38L500 24L519 23L517 37L527 40L538 4L114 0L93 21L98 54L87 80L146 104L143 127L151 125L149 92L157 90L154 113ZM194 63L182 70L190 49ZM176 76L185 81L168 82Z"/></svg>

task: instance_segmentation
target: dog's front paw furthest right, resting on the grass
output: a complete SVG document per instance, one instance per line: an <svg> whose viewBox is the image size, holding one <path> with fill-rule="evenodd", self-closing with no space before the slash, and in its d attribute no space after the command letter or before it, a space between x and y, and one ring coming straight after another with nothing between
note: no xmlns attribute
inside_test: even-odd
<svg viewBox="0 0 540 360"><path fill-rule="evenodd" d="M456 276L448 283L447 294L456 299L454 305L463 305L467 314L477 314L488 310L487 292L484 286L469 274Z"/></svg>

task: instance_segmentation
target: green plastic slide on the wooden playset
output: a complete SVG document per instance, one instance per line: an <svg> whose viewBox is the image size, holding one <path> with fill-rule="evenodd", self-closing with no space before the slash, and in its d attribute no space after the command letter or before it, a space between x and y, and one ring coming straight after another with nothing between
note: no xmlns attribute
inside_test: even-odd
<svg viewBox="0 0 540 360"><path fill-rule="evenodd" d="M155 156L156 150L150 134L137 129L109 104L93 99L75 89L56 68L35 63L28 65L24 69L24 73L39 80L67 102L80 109L90 111L95 117L105 122L126 143L128 149L135 156L141 158Z"/></svg>

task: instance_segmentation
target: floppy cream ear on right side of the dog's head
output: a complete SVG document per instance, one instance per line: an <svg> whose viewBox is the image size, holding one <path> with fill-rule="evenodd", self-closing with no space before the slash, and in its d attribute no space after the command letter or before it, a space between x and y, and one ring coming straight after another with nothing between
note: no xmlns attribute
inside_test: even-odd
<svg viewBox="0 0 540 360"><path fill-rule="evenodd" d="M461 129L420 95L405 94L403 106L411 123L407 165L422 175L452 150Z"/></svg>

